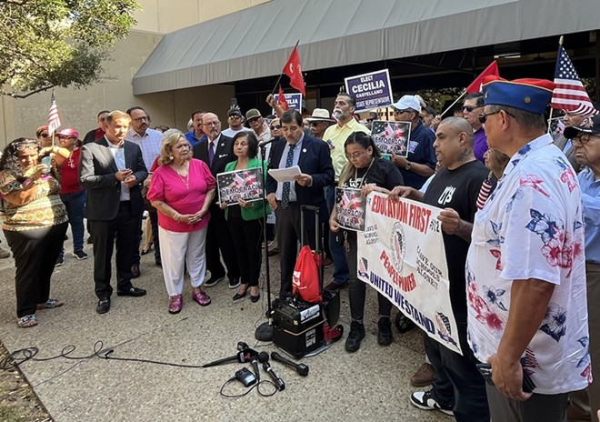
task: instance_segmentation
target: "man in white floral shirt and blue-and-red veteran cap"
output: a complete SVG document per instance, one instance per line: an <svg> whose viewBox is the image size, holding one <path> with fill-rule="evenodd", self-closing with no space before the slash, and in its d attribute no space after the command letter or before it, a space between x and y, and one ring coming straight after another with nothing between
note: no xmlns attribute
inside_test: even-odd
<svg viewBox="0 0 600 422"><path fill-rule="evenodd" d="M469 346L492 368L492 420L565 421L568 393L587 387L591 368L581 193L546 134L555 84L488 76L483 87L479 120L490 148L511 160L475 215L465 269Z"/></svg>

